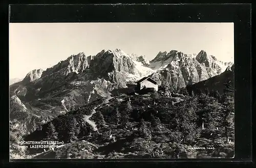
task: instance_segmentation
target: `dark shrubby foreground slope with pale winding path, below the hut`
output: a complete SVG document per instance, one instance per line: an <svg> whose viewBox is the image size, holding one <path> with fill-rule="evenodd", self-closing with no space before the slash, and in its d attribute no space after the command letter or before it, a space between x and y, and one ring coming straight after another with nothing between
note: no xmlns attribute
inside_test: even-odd
<svg viewBox="0 0 256 168"><path fill-rule="evenodd" d="M37 154L35 158L230 158L234 150L233 127L227 132L226 142L222 108L222 103L206 95L170 98L152 93L99 99L27 135L25 141L51 139L64 143L54 151L46 149L47 152L28 147L27 155ZM207 114L203 114L205 110Z"/></svg>

